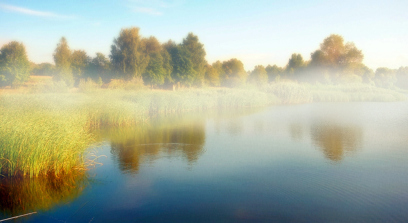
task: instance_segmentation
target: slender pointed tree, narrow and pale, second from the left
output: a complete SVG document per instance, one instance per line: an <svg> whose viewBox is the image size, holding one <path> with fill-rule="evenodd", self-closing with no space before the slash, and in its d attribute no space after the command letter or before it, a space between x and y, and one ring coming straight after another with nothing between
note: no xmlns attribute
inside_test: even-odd
<svg viewBox="0 0 408 223"><path fill-rule="evenodd" d="M69 49L67 39L62 37L60 42L57 44L57 48L53 53L53 58L55 62L55 75L54 79L56 81L64 81L68 86L73 86L74 79L72 75L71 68L71 50Z"/></svg>

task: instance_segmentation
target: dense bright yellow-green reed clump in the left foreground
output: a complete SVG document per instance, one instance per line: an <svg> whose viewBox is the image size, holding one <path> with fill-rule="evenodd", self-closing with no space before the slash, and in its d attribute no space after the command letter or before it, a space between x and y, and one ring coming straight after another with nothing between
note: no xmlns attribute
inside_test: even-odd
<svg viewBox="0 0 408 223"><path fill-rule="evenodd" d="M83 113L31 96L2 97L0 173L4 176L63 174L81 168L92 136Z"/></svg>

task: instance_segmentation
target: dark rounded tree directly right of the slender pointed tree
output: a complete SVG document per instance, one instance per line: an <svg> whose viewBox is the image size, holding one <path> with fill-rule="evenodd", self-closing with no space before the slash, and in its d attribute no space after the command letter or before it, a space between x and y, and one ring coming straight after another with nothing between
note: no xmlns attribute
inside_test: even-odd
<svg viewBox="0 0 408 223"><path fill-rule="evenodd" d="M79 79L83 79L85 71L88 69L91 57L86 55L84 50L74 50L71 54L72 75L75 79L75 84L79 83Z"/></svg>

